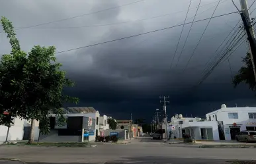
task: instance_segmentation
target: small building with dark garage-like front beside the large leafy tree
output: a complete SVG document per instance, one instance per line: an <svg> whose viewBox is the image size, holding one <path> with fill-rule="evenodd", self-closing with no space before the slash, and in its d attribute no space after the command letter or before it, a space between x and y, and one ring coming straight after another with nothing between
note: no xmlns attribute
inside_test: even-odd
<svg viewBox="0 0 256 164"><path fill-rule="evenodd" d="M99 135L99 111L93 107L70 107L64 111L67 121L61 125L58 123L56 114L49 114L50 134L40 134L40 141L84 142L95 140L95 136ZM88 126L89 117L91 117L92 126Z"/></svg>

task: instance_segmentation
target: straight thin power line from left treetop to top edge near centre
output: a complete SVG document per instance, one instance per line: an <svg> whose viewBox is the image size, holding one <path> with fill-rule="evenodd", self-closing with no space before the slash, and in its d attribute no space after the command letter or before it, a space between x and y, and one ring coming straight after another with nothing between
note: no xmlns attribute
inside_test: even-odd
<svg viewBox="0 0 256 164"><path fill-rule="evenodd" d="M116 6L116 7L110 7L108 9L104 9L104 10L101 10L101 11L95 11L95 12L92 12L92 13L81 14L81 15L78 15L78 16L72 16L72 17L64 18L64 19L60 19L60 20L54 20L52 22L46 22L46 23L42 23L42 24L36 24L36 25L32 25L32 26L26 26L26 27L22 27L22 28L17 28L15 30L21 30L21 29L25 29L25 28L32 28L32 27L36 27L36 26L42 26L42 25L46 25L46 24L52 24L52 23L55 23L55 22L62 22L64 20L69 20L69 19L73 19L73 18L79 18L81 16L87 16L87 15L95 14L95 13L101 13L103 11L109 11L109 10L116 9L116 8L119 8L119 7L124 7L124 6L127 6L127 5L132 5L134 3L140 3L142 1L144 1L144 0L135 1L135 2L132 2L132 3L126 3L124 5L119 5L119 6ZM0 32L0 33L2 33L2 32Z"/></svg>

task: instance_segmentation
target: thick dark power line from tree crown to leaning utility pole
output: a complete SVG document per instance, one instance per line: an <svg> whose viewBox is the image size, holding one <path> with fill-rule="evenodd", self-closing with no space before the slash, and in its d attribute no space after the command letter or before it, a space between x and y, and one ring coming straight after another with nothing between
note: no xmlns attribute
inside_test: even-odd
<svg viewBox="0 0 256 164"><path fill-rule="evenodd" d="M214 16L214 17L211 17L211 18L218 18L220 16L226 16L228 14L234 14L234 13L237 13L237 12L232 12L232 13L227 13L227 14L221 14L221 15L218 15L218 16ZM201 21L204 21L204 20L208 20L208 19L211 19L211 18L204 18L204 19L201 19L201 20L196 20L194 22L201 22ZM194 22L188 22L188 23L185 23L186 24L191 24L191 23L194 23ZM179 25L175 25L175 26L170 26L170 27L167 27L167 28L161 28L159 30L153 30L153 31L150 31L150 32L144 32L144 33L141 33L141 34L136 34L136 35L133 35L133 36L127 36L127 37L124 37L124 38L118 38L116 40L110 40L110 41L103 41L101 43L94 43L94 44L91 44L91 45L85 45L83 47L77 47L77 48L73 48L73 49L67 49L65 51L59 51L59 52L56 52L56 53L64 53L64 52L67 52L67 51L73 51L73 50L76 50L76 49L82 49L82 48L86 48L86 47L93 47L95 45L101 45L101 44L105 44L105 43L110 43L110 42L113 42L113 41L118 41L118 40L125 40L125 39L128 39L128 38L133 38L133 37L136 37L136 36L142 36L142 35L145 35L145 34L150 34L150 33L153 33L153 32L159 32L159 31L162 31L162 30L167 30L167 29L170 29L170 28L175 28L175 27L178 27L178 26L183 26L183 24L179 24Z"/></svg>

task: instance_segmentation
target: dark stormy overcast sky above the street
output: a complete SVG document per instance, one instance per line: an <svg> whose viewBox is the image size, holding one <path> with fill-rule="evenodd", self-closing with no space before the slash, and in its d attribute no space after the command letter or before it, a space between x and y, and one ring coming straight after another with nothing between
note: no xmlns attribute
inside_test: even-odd
<svg viewBox="0 0 256 164"><path fill-rule="evenodd" d="M190 3L190 0L137 1L9 0L0 2L0 16L11 20L15 28L69 18L17 30L24 51L30 51L34 45L55 45L56 51L60 52L183 24ZM192 0L186 22L192 22L199 1ZM248 5L252 2L249 0ZM235 3L239 7L239 1L235 0ZM202 0L195 20L212 16L217 4L217 0ZM250 10L255 7L256 3ZM237 9L230 0L222 0L214 16L234 11ZM251 15L255 17L256 12ZM79 17L71 18L74 16ZM239 14L212 18L193 55L208 20L192 25L182 54L191 24L184 26L178 47L182 26L58 53L58 62L63 63L62 68L76 84L65 92L79 97L77 106L93 106L101 114L117 119L129 119L132 113L134 119L144 117L148 120L155 109L162 109L160 95L169 95L169 117L175 113L204 117L212 109L220 108L222 103L228 107L235 107L235 103L238 107L255 106L255 96L247 86L234 89L231 83L231 76L243 65L241 57L247 52L245 41L230 56L230 65L228 60L223 61L202 84L197 85L207 61L210 57L214 59L214 52L239 19ZM3 31L2 27L0 30ZM0 54L10 50L6 34L0 33Z"/></svg>

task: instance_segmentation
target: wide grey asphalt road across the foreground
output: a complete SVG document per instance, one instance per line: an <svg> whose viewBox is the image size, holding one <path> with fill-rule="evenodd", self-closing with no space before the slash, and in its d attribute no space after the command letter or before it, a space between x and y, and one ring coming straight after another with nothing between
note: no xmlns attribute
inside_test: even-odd
<svg viewBox="0 0 256 164"><path fill-rule="evenodd" d="M30 164L50 163L227 163L234 159L256 160L253 148L184 148L151 138L131 144L104 144L95 148L1 146L0 158L19 158ZM11 164L11 163L10 163Z"/></svg>

